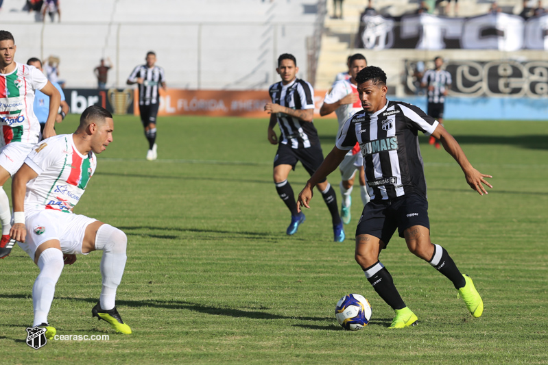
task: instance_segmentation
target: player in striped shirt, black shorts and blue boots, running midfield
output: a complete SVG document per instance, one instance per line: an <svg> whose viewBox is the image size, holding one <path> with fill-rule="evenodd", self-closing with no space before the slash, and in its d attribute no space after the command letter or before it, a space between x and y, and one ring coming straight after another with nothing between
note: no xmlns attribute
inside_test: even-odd
<svg viewBox="0 0 548 365"><path fill-rule="evenodd" d="M286 230L288 235L295 234L299 225L305 221L305 214L298 212L293 189L287 181L289 171L294 170L300 161L312 175L324 160L318 131L312 123L314 90L307 81L296 77L298 70L293 55L284 53L278 57L276 71L282 81L270 86L268 92L272 103L265 105L265 111L270 114L268 140L272 144L278 144L278 151L274 157L274 184L278 195L291 212L291 223ZM274 131L276 123L281 131L279 143ZM342 242L345 236L335 190L327 179L318 181L317 185L331 213L334 240Z"/></svg>

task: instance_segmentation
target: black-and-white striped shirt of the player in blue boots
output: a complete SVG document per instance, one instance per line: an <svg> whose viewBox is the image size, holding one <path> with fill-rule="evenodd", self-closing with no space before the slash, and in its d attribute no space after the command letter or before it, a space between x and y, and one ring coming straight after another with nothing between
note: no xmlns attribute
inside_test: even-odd
<svg viewBox="0 0 548 365"><path fill-rule="evenodd" d="M314 109L314 89L305 80L296 78L287 85L280 81L270 86L268 92L272 103L295 110ZM301 121L285 113L276 113L276 118L282 132L280 143L289 144L294 149L320 144L318 131L312 122Z"/></svg>

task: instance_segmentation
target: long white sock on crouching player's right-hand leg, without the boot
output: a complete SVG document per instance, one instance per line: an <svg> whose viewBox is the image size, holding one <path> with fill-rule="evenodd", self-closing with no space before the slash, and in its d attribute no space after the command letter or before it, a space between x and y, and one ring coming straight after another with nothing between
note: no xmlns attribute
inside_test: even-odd
<svg viewBox="0 0 548 365"><path fill-rule="evenodd" d="M111 310L116 303L116 290L126 267L128 237L111 225L102 225L95 236L95 249L103 250L101 275L103 287L99 303L102 310Z"/></svg>

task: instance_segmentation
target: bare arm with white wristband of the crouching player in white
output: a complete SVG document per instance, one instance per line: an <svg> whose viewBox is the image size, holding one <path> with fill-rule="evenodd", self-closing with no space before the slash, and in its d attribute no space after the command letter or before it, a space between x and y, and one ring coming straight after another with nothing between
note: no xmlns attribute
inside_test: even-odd
<svg viewBox="0 0 548 365"><path fill-rule="evenodd" d="M27 164L23 164L12 179L12 203L14 225L10 229L10 236L19 242L25 242L27 229L25 227L25 193L27 182L36 178L38 174Z"/></svg>

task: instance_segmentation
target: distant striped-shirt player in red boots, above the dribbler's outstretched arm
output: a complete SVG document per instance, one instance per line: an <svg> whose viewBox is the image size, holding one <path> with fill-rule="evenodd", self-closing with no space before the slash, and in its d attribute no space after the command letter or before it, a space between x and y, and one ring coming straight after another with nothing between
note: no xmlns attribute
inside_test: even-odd
<svg viewBox="0 0 548 365"><path fill-rule="evenodd" d="M440 56L434 58L434 65L436 66L435 69L427 70L425 75L422 76L420 86L428 89L427 114L432 118L436 118L443 125L445 97L452 84L451 73L442 70L443 59ZM430 136L429 143L434 144L437 149L440 148L440 142L434 136Z"/></svg>

